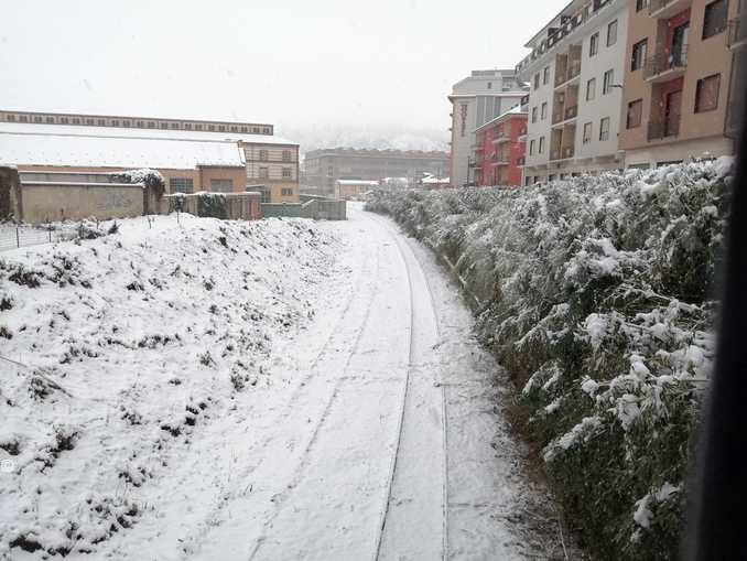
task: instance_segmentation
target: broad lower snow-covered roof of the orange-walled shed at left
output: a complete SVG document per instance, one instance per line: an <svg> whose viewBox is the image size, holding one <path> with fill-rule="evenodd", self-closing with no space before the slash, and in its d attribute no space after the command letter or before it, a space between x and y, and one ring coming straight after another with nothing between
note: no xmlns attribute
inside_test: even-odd
<svg viewBox="0 0 747 561"><path fill-rule="evenodd" d="M175 170L246 165L236 142L9 132L7 125L0 123L0 164Z"/></svg>

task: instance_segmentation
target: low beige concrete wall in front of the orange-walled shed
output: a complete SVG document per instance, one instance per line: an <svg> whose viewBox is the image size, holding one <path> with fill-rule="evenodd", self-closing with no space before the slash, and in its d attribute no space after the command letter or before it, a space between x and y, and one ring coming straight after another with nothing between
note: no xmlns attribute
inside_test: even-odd
<svg viewBox="0 0 747 561"><path fill-rule="evenodd" d="M41 224L142 216L143 194L142 185L122 183L24 182L21 217L23 222Z"/></svg>

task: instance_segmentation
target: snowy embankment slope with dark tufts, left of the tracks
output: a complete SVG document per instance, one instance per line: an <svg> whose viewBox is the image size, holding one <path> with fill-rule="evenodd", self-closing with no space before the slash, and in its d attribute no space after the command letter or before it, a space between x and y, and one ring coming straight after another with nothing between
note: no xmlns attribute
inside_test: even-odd
<svg viewBox="0 0 747 561"><path fill-rule="evenodd" d="M0 557L100 551L158 517L145 489L193 432L271 407L354 281L325 225L182 220L0 256L0 355L29 366L0 365Z"/></svg>

